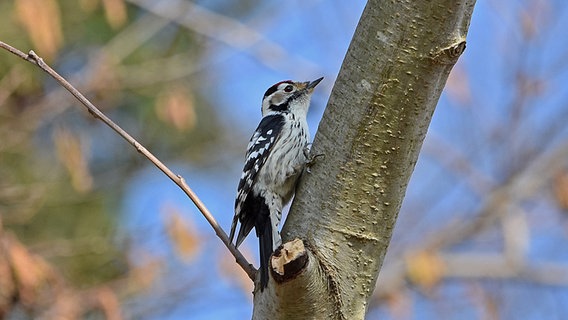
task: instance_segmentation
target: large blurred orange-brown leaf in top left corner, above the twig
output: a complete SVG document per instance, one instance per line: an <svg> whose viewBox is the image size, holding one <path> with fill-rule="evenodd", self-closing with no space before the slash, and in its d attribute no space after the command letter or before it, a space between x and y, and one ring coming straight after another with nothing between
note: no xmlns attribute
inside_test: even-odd
<svg viewBox="0 0 568 320"><path fill-rule="evenodd" d="M15 10L39 55L52 60L63 45L57 1L15 0Z"/></svg>

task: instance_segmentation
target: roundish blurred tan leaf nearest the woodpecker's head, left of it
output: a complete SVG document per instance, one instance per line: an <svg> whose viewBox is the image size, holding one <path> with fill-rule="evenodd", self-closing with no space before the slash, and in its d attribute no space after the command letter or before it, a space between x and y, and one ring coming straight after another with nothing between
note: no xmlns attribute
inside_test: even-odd
<svg viewBox="0 0 568 320"><path fill-rule="evenodd" d="M156 114L181 132L191 130L197 120L193 97L180 85L168 88L158 96Z"/></svg>

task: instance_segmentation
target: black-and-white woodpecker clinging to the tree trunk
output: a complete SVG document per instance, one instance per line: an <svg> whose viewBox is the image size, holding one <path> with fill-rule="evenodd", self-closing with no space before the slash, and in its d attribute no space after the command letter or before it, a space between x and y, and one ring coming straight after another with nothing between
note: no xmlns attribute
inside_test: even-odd
<svg viewBox="0 0 568 320"><path fill-rule="evenodd" d="M255 228L261 291L268 285L268 260L282 244L278 231L282 207L292 198L296 182L310 161L306 115L314 88L322 79L287 80L268 88L262 99L262 120L247 147L229 238L233 242L237 221L236 247Z"/></svg>

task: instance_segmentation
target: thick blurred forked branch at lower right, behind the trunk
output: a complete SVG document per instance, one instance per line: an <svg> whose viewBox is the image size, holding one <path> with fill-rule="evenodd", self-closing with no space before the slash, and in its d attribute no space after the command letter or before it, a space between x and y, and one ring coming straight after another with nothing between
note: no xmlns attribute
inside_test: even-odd
<svg viewBox="0 0 568 320"><path fill-rule="evenodd" d="M475 214L475 218L459 222L451 221L447 225L439 227L435 234L426 238L420 246L406 249L406 253L403 255L411 256L416 252L437 252L443 257L441 261L445 269L443 277L518 278L547 285L553 285L552 279L556 279L557 285L567 285L567 265L557 263L530 265L526 261L526 252L523 250L519 252L511 245L505 245L505 250L502 253L493 255L442 252L445 248L485 231L498 221L504 224L503 228L507 228L505 226L508 223L507 221L512 217L515 218L519 210L522 212L521 202L534 196L537 190L545 187L554 175L565 166L566 154L568 154L568 144L566 143L539 154L523 170L511 177L507 183L488 190L480 209ZM517 213L512 217L508 214L511 210L517 210ZM511 236L523 237L523 241L529 240L528 235L515 229L513 232L504 232L505 244L514 242L507 240ZM514 263L511 263L511 258L513 258L514 261L512 262ZM378 286L375 291L377 298L394 294L404 286L405 279L408 277L408 269L405 268L405 264L406 262L403 259L396 259L384 266L380 276L382 286Z"/></svg>

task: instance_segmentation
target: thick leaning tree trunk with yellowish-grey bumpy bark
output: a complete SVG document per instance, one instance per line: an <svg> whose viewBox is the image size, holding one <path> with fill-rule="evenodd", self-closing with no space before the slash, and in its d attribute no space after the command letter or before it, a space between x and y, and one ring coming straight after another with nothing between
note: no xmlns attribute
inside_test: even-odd
<svg viewBox="0 0 568 320"><path fill-rule="evenodd" d="M368 2L314 140L325 159L302 178L282 232L303 240L307 262L255 292L253 319L365 317L474 4Z"/></svg>

